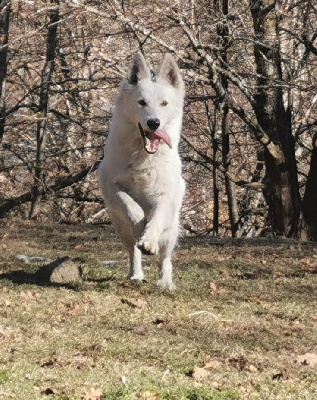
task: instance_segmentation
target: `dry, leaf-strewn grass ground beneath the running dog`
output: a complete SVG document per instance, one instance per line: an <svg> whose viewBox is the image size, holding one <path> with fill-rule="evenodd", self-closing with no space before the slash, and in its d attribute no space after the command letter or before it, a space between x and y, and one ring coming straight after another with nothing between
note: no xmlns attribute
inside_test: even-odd
<svg viewBox="0 0 317 400"><path fill-rule="evenodd" d="M109 226L3 221L0 237L0 398L317 398L296 362L317 353L317 246L184 238L168 292L155 257L146 283L125 279ZM67 255L83 282L44 285L18 254Z"/></svg>

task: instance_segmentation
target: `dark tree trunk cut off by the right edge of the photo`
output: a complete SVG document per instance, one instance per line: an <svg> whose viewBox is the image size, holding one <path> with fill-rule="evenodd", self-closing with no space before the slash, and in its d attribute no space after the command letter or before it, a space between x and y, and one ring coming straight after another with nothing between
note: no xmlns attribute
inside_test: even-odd
<svg viewBox="0 0 317 400"><path fill-rule="evenodd" d="M317 240L317 133L313 138L313 151L303 199L302 239Z"/></svg>

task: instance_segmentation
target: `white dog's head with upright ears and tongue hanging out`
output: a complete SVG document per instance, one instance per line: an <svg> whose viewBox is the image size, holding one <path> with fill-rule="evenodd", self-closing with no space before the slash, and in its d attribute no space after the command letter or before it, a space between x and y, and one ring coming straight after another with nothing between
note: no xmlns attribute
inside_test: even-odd
<svg viewBox="0 0 317 400"><path fill-rule="evenodd" d="M137 127L144 148L156 153L160 145L172 148L179 140L183 111L184 82L170 54L166 54L157 73L137 53L123 81L126 118ZM175 137L177 136L177 137Z"/></svg>

